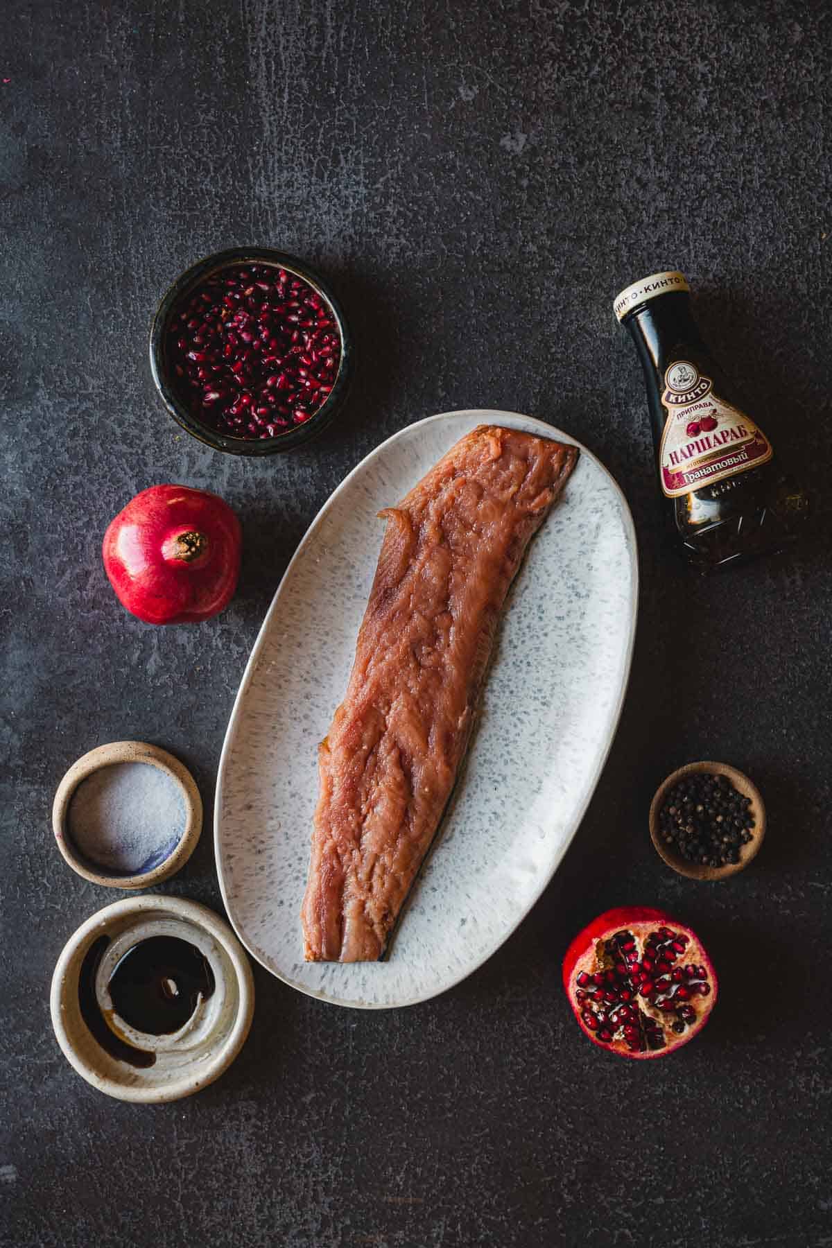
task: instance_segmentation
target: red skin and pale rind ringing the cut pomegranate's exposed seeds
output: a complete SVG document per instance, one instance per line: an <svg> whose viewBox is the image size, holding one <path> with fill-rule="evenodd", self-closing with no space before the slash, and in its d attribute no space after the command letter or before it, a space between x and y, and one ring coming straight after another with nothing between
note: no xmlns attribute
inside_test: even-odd
<svg viewBox="0 0 832 1248"><path fill-rule="evenodd" d="M642 925L651 925L651 926L664 925L667 927L676 929L679 932L682 932L685 936L690 938L690 941L694 942L694 945L699 950L699 955L701 955L701 958L704 960L705 966L707 967L710 993L707 998L707 1007L697 1017L696 1025L692 1027L687 1027L684 1035L674 1036L670 1040L670 1042L666 1043L665 1047L662 1048L656 1048L656 1050L645 1048L645 1050L630 1051L626 1048L615 1047L615 1045L612 1043L607 1043L605 1041L599 1040L599 1036L585 1025L583 1018L583 1006L575 1000L574 995L575 985L573 977L575 975L575 968L578 963L581 962L581 960L586 958L588 952L593 948L596 941L609 937L611 934L619 930L630 930L632 927L640 929ZM694 956L692 947L690 948L689 952L686 952L686 956L691 957ZM599 915L597 919L594 919L591 924L588 924L588 926L584 927L584 930L578 934L578 936L573 940L569 948L566 950L563 965L563 981L564 981L564 991L566 992L566 996L569 998L573 1013L575 1015L578 1025L580 1026L584 1035L588 1036L594 1045L597 1045L599 1048L606 1048L610 1052L615 1053L617 1057L627 1057L631 1058L632 1061L649 1061L652 1060L654 1057L665 1057L667 1053L672 1053L677 1048L681 1048L682 1045L687 1045L689 1041L694 1040L694 1037L700 1033L700 1031L710 1018L711 1011L716 1005L716 998L718 993L718 985L717 985L716 971L713 970L713 963L711 962L709 955L705 952L699 937L692 931L692 929L690 929L686 924L677 922L672 917L672 915L666 914L666 911L655 910L650 906L617 906L614 910L606 910L602 915Z"/></svg>

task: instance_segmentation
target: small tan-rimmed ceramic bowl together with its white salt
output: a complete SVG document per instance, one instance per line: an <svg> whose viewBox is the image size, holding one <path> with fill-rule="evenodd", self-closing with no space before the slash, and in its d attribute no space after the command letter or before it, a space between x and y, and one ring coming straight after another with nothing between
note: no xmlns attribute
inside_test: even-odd
<svg viewBox="0 0 832 1248"><path fill-rule="evenodd" d="M178 759L142 741L90 750L61 780L52 806L57 846L85 880L147 889L187 862L202 800Z"/></svg>

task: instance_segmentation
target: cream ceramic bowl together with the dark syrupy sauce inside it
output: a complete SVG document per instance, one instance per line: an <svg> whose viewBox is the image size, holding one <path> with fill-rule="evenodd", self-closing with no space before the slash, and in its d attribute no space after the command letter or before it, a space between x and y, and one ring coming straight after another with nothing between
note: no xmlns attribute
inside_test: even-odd
<svg viewBox="0 0 832 1248"><path fill-rule="evenodd" d="M233 1062L254 986L239 941L212 911L128 897L70 937L50 1005L64 1055L92 1087L120 1101L178 1101Z"/></svg>

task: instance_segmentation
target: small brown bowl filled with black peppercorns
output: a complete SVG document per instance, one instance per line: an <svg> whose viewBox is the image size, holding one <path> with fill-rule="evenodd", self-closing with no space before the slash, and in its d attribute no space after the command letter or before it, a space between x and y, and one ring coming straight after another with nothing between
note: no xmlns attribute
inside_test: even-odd
<svg viewBox="0 0 832 1248"><path fill-rule="evenodd" d="M726 880L757 854L766 807L748 776L727 763L689 763L650 805L650 837L667 866L691 880Z"/></svg>

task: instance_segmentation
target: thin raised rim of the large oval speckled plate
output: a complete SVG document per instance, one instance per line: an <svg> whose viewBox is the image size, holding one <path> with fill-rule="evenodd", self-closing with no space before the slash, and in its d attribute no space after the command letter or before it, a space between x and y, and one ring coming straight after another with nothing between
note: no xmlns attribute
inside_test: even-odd
<svg viewBox="0 0 832 1248"><path fill-rule="evenodd" d="M469 967L468 970L464 970L460 975L458 975L455 978L452 978L448 983L443 983L440 987L437 987L437 988L430 988L429 991L423 992L423 993L420 993L418 996L409 997L407 1001L397 1001L397 1002L347 1001L347 1000L344 1000L342 997L332 996L332 995L329 995L327 992L316 991L314 988L307 988L302 983L297 983L293 980L287 978L284 975L282 975L279 971L277 971L274 968L274 966L269 965L261 956L261 953L254 947L252 947L252 942L249 942L248 937L246 936L246 934L242 931L242 929L237 924L236 916L235 916L235 914L233 914L233 911L232 911L232 909L231 909L231 906L228 904L228 895L227 895L227 890L226 890L226 881L225 881L225 877L223 877L223 865L222 865L223 864L223 855L222 855L222 850L221 850L221 845L220 845L221 807L222 807L223 787L225 787L225 773L226 773L226 766L228 764L228 758L230 758L230 754L231 754L231 744L230 743L231 743L231 739L232 739L232 736L233 736L233 734L235 734L235 731L237 729L237 720L238 720L238 716L239 716L241 704L242 704L246 694L248 693L248 688L249 688L252 678L254 675L254 669L257 666L259 653L261 653L261 650L263 649L263 646L266 644L266 636L268 634L268 625L269 625L272 615L273 615L273 613L274 613L274 610L277 608L277 602L278 602L278 598L281 597L281 590L283 589L283 584L287 580L289 573L292 572L296 560L299 558L299 555L304 550L307 543L311 540L311 535L314 532L314 529L317 528L318 522L331 509L331 507L334 504L336 498L338 498L338 495L342 493L342 490L346 489L346 487L352 480L352 478L359 472L359 469L364 468L364 466L370 459L374 459L378 454L380 454L382 451L384 451L392 443L399 441L399 438L403 438L405 434L413 433L414 429L424 428L428 424L435 424L439 421L448 421L448 419L450 419L453 417L472 417L472 418L479 419L480 423L490 423L490 424L498 424L499 421L500 421L500 418L505 419L506 417L509 419L524 421L524 422L526 422L526 423L536 427L538 429L540 429L541 436L549 438L550 441L566 442L570 446L578 447L579 451L580 451L580 453L581 453L581 457L586 456L589 459L591 459L593 463L597 468L600 468L601 472L604 473L604 475L610 480L610 483L612 485L612 490L617 495L619 507L620 507L621 517L622 517L622 522L624 522L624 529L625 529L625 534L626 534L626 538L627 538L627 547L629 547L629 552L630 552L630 577L631 577L631 582L632 582L632 595L631 595L631 604L630 604L629 634L627 634L627 645L626 645L625 661L624 661L624 679L621 680L621 688L620 688L620 691L619 691L617 703L616 703L616 705L614 708L614 711L612 711L612 715L610 718L610 728L609 728L609 733L607 733L607 739L606 739L606 741L604 744L604 749L599 754L597 765L596 765L596 768L595 768L595 770L593 773L591 782L588 785L586 797L581 802L581 805L580 805L580 807L578 810L578 817L575 819L574 831L573 831L571 836L569 837L569 840L566 841L566 844L563 846L560 854L554 859L553 865L551 865L551 870L540 881L540 885L536 889L536 891L534 892L534 895L531 896L531 900L529 901L529 905L521 912L519 912L518 916L516 916L516 919L515 919L515 921L510 926L508 926L504 932L501 932L500 938L494 945L491 945L489 947L488 952L474 966ZM639 547L637 547L637 540L636 540L635 524L634 524L634 520L632 520L632 513L630 512L630 504L626 500L624 490L619 485L617 480L615 479L615 477L612 475L612 473L610 472L610 469L604 463L601 463L601 461L597 458L597 456L593 451L590 451L588 447L585 447L583 442L579 442L578 438L574 438L570 433L566 433L564 429L559 429L555 426L549 424L546 421L541 421L539 417L525 416L523 412L506 412L506 411L501 411L501 409L498 409L498 408L479 408L479 407L473 407L473 408L455 408L454 411L450 411L450 412L438 412L435 416L427 416L422 421L414 421L412 424L405 424L404 428L398 429L395 433L390 434L389 438L385 438L383 442L379 442L379 444L377 447L373 447L372 451L369 451L362 459L359 459L359 462L356 464L356 467L351 468L351 470L347 473L347 475L343 478L343 480L339 482L338 485L336 485L336 488L332 490L332 493L324 500L323 505L318 509L318 512L316 513L316 515L312 518L312 520L307 525L307 529L306 529L303 537L301 538L301 540L297 544L294 554L292 555L292 558L289 559L288 564L286 565L286 570L283 572L283 575L281 577L281 579L279 579L279 582L277 584L277 588L274 590L272 600L271 600L271 603L268 605L266 615L263 617L263 622L262 622L262 624L259 626L259 631L257 633L257 636L256 636L254 643L252 645L251 653L248 655L248 660L247 660L246 666L243 669L243 674L241 676L239 685L237 688L237 694L235 696L235 704L233 704L233 706L231 709L231 715L228 716L228 724L226 726L226 734L225 734L225 738L223 738L223 741L222 741L222 750L221 750L221 754L220 754L220 763L217 765L217 785L216 785L216 790L215 790L215 801L213 801L213 852L215 852L216 869L217 869L217 880L218 880L218 884L220 884L220 894L222 896L223 909L226 911L226 915L228 916L228 922L231 924L231 926L232 926L233 931L236 932L238 940L241 941L241 943L243 945L243 947L247 950L247 952L249 953L249 956L253 957L254 961L259 963L259 966L264 967L269 972L269 975L273 975L274 978L279 980L282 983L286 983L289 988L293 988L296 992L302 992L303 996L312 997L316 1001L322 1001L326 1005L341 1006L342 1008L346 1008L346 1010L403 1010L403 1008L405 1008L408 1006L420 1005L423 1001L430 1001L434 997L442 996L444 992L449 992L452 988L457 987L457 985L462 983L470 975L473 975L474 971L478 971L481 966L484 966L491 957L494 957L494 955L496 953L496 951L499 948L501 948L501 946L509 940L509 937L514 935L514 932L518 930L518 927L524 921L524 919L528 917L528 915L531 912L533 907L536 906L538 901L543 896L544 891L551 884L551 881L553 881L553 879L555 876L555 872L558 871L558 867L560 866L560 864L564 860L566 850L570 847L570 845L573 844L575 836L578 835L578 831L579 831L579 829L580 829L580 826L581 826L581 824L584 821L584 815L586 814L589 804L590 804L590 801L593 800L593 797L595 795L595 790L597 789L599 780L601 779L601 774L604 771L604 768L606 766L606 760L609 758L610 750L612 748L612 741L615 740L615 736L616 736L616 733L617 733L617 729L619 729L619 723L621 720L621 711L624 710L624 701L625 701L625 698L626 698L626 694L627 694L627 689L629 689L629 685L630 685L630 673L631 673L631 668L632 668L632 651L634 651L634 646L635 646L636 624L637 624L637 618L639 618L639 585L640 585L640 579L639 579Z"/></svg>

